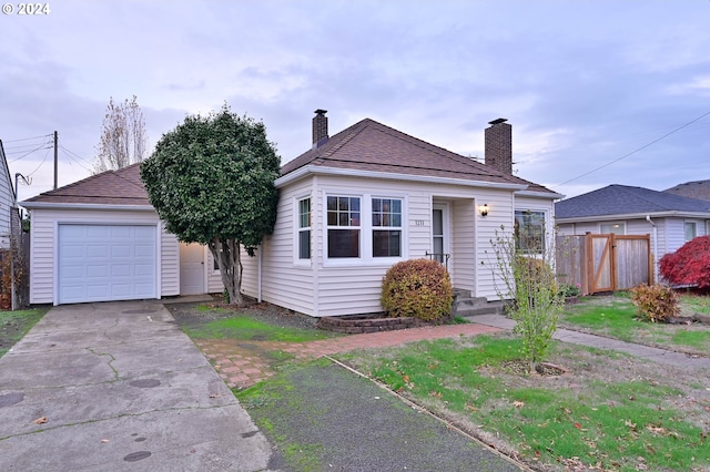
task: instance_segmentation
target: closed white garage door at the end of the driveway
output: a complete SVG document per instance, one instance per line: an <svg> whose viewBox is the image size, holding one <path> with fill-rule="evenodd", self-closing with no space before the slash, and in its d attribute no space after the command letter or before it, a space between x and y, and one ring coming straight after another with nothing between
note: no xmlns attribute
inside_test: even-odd
<svg viewBox="0 0 710 472"><path fill-rule="evenodd" d="M59 225L59 302L156 298L156 228Z"/></svg>

